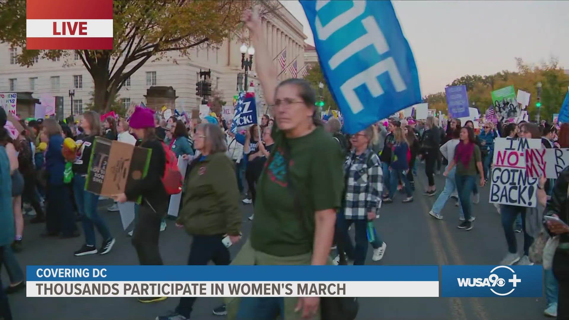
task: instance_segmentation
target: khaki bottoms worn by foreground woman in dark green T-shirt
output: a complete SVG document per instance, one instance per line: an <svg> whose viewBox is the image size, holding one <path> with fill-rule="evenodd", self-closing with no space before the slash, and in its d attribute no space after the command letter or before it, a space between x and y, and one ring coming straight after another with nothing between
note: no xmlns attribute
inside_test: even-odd
<svg viewBox="0 0 569 320"><path fill-rule="evenodd" d="M249 239L237 253L237 256L231 263L232 265L310 265L312 253L306 253L299 256L277 257L267 255L266 253L255 251L249 242ZM328 264L332 264L332 260L328 259ZM234 320L239 310L241 298L228 297L224 298L227 305L227 318ZM284 297L284 319L297 320L302 316L302 310L295 312L294 309L298 303L298 297ZM280 316L278 317L280 319ZM320 320L320 310L310 320Z"/></svg>

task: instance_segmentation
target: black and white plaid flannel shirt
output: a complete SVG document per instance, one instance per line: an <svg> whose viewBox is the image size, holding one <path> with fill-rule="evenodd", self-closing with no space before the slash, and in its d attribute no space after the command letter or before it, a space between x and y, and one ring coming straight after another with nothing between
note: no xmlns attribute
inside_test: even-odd
<svg viewBox="0 0 569 320"><path fill-rule="evenodd" d="M343 213L346 219L368 219L368 212L379 214L383 191L380 157L372 149L356 155L354 151L344 162L346 191Z"/></svg>

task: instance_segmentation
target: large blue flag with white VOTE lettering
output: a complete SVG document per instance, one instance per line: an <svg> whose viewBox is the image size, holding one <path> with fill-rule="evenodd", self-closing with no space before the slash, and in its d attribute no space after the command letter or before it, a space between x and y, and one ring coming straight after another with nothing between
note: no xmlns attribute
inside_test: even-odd
<svg viewBox="0 0 569 320"><path fill-rule="evenodd" d="M344 117L343 131L422 102L409 43L390 1L300 0L324 77Z"/></svg>

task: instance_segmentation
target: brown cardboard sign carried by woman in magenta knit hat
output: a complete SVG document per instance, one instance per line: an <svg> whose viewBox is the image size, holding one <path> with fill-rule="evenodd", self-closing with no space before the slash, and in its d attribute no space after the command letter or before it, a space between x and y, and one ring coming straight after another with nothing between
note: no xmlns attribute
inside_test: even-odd
<svg viewBox="0 0 569 320"><path fill-rule="evenodd" d="M125 192L146 177L152 150L97 137L89 161L85 190L102 196Z"/></svg>

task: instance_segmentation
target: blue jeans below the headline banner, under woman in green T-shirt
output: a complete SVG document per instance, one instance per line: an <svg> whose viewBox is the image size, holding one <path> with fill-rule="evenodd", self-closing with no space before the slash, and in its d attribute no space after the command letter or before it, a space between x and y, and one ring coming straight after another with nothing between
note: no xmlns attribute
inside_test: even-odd
<svg viewBox="0 0 569 320"><path fill-rule="evenodd" d="M283 297L242 297L236 320L274 320L278 314L284 319Z"/></svg>

